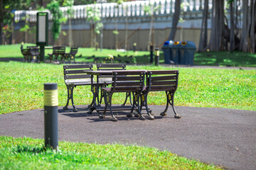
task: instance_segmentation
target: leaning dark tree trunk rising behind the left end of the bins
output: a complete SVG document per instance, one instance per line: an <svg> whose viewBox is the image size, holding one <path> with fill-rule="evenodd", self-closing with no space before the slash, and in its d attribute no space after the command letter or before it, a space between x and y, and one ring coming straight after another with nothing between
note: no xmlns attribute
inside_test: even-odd
<svg viewBox="0 0 256 170"><path fill-rule="evenodd" d="M171 33L169 35L169 40L174 40L175 38L180 14L181 14L181 0L175 0L175 11L174 11L173 21L171 26Z"/></svg>

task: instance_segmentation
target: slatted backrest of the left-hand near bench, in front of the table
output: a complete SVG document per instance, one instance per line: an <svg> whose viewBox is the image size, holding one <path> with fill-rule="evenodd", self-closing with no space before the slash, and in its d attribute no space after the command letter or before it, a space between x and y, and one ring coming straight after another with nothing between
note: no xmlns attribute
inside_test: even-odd
<svg viewBox="0 0 256 170"><path fill-rule="evenodd" d="M144 88L144 71L116 71L112 74L113 92L142 92Z"/></svg>

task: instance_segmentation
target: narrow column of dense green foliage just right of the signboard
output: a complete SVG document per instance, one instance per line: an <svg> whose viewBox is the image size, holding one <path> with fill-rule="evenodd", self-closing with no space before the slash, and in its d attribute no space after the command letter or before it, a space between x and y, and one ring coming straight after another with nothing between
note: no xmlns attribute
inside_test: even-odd
<svg viewBox="0 0 256 170"><path fill-rule="evenodd" d="M51 15L53 16L53 26L51 28L53 39L57 40L60 35L61 30L61 23L63 20L63 13L60 11L60 4L58 1L53 0L50 4L47 5L48 10L50 11Z"/></svg>

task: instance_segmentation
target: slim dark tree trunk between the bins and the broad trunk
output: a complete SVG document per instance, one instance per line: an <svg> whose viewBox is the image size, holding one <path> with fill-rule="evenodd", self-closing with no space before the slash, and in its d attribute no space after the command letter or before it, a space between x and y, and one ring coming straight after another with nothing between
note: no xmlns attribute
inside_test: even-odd
<svg viewBox="0 0 256 170"><path fill-rule="evenodd" d="M207 18L208 18L208 0L204 2L203 8L203 21L201 26L201 33L200 33L200 42L198 47L198 52L206 51L207 47Z"/></svg>

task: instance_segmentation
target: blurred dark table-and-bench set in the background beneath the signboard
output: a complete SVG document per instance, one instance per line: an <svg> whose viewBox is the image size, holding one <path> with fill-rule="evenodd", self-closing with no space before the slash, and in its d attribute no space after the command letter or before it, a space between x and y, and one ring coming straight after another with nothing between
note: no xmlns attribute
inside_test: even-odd
<svg viewBox="0 0 256 170"><path fill-rule="evenodd" d="M52 53L48 53L49 57L46 62L75 62L75 55L78 53L78 47L71 47L70 52L65 52L65 46L46 47L46 49L53 49ZM39 47L28 46L23 49L21 45L21 53L24 57L24 62L39 62ZM60 57L60 58L59 58Z"/></svg>

